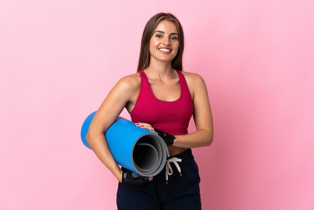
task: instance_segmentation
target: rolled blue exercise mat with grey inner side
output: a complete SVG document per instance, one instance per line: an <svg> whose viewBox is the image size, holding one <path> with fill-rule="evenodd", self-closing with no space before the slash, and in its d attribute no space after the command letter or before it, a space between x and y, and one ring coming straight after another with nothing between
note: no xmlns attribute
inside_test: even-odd
<svg viewBox="0 0 314 210"><path fill-rule="evenodd" d="M85 136L95 114L93 112L86 118L81 129L82 142L89 149ZM169 151L164 140L129 120L119 116L105 137L115 161L141 176L155 176L166 165Z"/></svg>

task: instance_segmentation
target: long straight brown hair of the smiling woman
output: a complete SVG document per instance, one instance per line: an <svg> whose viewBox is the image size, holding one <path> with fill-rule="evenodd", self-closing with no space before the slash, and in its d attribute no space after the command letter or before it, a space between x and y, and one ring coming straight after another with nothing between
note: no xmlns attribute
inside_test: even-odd
<svg viewBox="0 0 314 210"><path fill-rule="evenodd" d="M179 20L170 13L158 13L151 17L149 21L146 23L141 45L140 45L140 54L138 59L137 65L137 72L145 69L149 65L149 42L153 35L154 30L156 29L157 25L162 20L169 20L176 24L178 34L179 34L179 49L176 57L172 60L172 67L174 69L182 71L182 56L183 56L183 49L184 49L184 36L183 36L183 29L179 22Z"/></svg>

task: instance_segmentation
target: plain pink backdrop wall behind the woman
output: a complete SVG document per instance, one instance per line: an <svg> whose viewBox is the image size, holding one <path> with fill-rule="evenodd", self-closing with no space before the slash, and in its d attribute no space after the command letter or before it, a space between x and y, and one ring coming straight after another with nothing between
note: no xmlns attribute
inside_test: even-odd
<svg viewBox="0 0 314 210"><path fill-rule="evenodd" d="M207 82L214 142L193 149L203 209L314 209L313 11L312 0L1 0L0 209L116 209L117 181L80 129L135 72L158 12L179 18L184 68Z"/></svg>

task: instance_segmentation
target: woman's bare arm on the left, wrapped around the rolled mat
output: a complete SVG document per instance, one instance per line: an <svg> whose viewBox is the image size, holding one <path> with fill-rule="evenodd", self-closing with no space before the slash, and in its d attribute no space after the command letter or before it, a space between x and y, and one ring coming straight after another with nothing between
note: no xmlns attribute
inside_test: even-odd
<svg viewBox="0 0 314 210"><path fill-rule="evenodd" d="M86 135L86 140L91 149L119 182L122 181L122 170L109 150L104 133L116 121L135 92L136 85L132 82L132 76L121 78L102 102Z"/></svg>

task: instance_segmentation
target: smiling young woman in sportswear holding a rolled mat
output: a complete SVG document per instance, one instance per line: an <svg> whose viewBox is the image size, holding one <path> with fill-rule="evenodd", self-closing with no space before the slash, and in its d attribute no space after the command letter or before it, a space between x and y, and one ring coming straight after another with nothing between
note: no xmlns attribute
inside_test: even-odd
<svg viewBox="0 0 314 210"><path fill-rule="evenodd" d="M203 78L182 71L183 49L178 19L165 13L153 16L143 31L137 73L114 85L91 122L86 139L119 181L119 210L201 209L200 177L191 148L211 145L213 121ZM110 153L104 133L124 108L132 122L168 145L166 167L154 177L134 177ZM196 131L188 134L192 116Z"/></svg>

